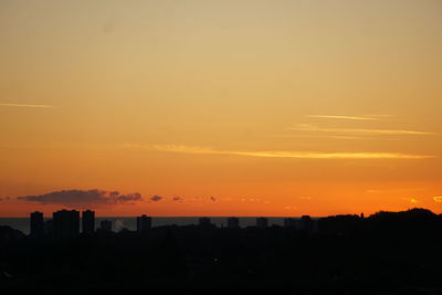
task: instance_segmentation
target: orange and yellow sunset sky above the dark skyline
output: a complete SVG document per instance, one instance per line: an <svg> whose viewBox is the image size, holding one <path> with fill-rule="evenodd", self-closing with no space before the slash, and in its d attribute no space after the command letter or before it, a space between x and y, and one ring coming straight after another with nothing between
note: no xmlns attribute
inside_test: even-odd
<svg viewBox="0 0 442 295"><path fill-rule="evenodd" d="M0 217L442 213L439 0L0 0Z"/></svg>

